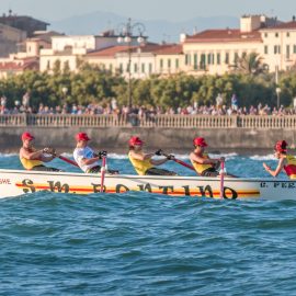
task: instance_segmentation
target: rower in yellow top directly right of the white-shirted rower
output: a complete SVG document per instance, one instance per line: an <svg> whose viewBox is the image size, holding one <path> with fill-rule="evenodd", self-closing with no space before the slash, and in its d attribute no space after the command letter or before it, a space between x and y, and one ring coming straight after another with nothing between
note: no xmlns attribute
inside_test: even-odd
<svg viewBox="0 0 296 296"><path fill-rule="evenodd" d="M161 156L162 150L159 149L153 153L145 153L143 151L144 141L139 137L132 137L129 139L129 152L128 158L134 166L136 172L139 175L177 175L175 172L171 172L164 169L155 168L155 166L161 166L169 160L173 159L173 156L168 156L164 159L152 159L153 156Z"/></svg>

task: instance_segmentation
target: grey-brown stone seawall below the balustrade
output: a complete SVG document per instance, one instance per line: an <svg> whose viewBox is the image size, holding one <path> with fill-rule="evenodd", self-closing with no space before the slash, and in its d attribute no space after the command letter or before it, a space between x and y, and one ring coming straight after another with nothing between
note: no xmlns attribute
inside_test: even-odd
<svg viewBox="0 0 296 296"><path fill-rule="evenodd" d="M0 127L0 152L15 152L21 147L20 136L31 132L36 147L55 147L58 151L72 151L75 135L86 132L91 137L91 147L106 149L109 152L124 153L128 150L127 141L132 135L140 136L147 149L163 149L168 152L183 153L192 149L194 137L205 137L209 151L253 151L272 152L278 139L285 139L295 147L295 129L253 129L253 128L160 128L160 127Z"/></svg>

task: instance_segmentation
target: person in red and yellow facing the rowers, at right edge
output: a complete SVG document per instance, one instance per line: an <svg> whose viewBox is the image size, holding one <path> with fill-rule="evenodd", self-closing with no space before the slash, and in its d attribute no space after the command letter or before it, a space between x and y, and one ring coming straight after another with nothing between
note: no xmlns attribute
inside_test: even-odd
<svg viewBox="0 0 296 296"><path fill-rule="evenodd" d="M275 144L274 156L278 159L278 163L274 171L265 162L263 162L263 167L273 177L277 177L281 171L284 171L289 179L296 180L296 158L287 155L287 146L285 140L278 140Z"/></svg>

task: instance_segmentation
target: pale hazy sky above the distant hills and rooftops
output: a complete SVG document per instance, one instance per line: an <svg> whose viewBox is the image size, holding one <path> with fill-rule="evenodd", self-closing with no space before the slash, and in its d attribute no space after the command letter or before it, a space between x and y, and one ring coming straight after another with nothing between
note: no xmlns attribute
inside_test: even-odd
<svg viewBox="0 0 296 296"><path fill-rule="evenodd" d="M237 16L265 13L283 21L296 14L295 0L0 0L0 14L59 21L94 11L113 12L137 20L186 21L196 16Z"/></svg>

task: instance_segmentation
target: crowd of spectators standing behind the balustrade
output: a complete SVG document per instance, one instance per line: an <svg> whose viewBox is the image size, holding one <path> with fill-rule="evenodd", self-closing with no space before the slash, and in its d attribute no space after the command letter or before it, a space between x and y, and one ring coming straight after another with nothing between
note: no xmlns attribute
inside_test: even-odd
<svg viewBox="0 0 296 296"><path fill-rule="evenodd" d="M0 100L0 114L72 114L72 115L111 115L116 114L123 117L127 116L137 116L139 119L145 117L153 117L156 115L166 114L166 115L293 115L296 114L296 109L291 107L286 109L283 105L280 109L271 107L267 104L263 105L259 103L257 106L251 105L250 107L240 106L237 96L234 94L231 98L231 104L224 104L224 99L220 94L216 98L216 104L213 105L198 105L196 102L186 107L169 107L163 109L160 106L137 106L132 107L123 105L118 106L115 99L112 99L109 104L102 105L98 103L89 105L67 105L62 106L47 106L41 103L37 107L34 107L30 104L30 94L25 93L22 102L15 101L14 107L7 107L7 98L1 96Z"/></svg>

